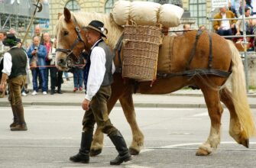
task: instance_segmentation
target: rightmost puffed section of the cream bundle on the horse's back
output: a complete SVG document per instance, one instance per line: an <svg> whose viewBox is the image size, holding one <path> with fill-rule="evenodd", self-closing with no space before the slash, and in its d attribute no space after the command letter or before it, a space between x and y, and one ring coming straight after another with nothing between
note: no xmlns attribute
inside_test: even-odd
<svg viewBox="0 0 256 168"><path fill-rule="evenodd" d="M177 27L180 25L180 18L183 15L183 8L177 5L164 4L160 6L159 22L164 27Z"/></svg>

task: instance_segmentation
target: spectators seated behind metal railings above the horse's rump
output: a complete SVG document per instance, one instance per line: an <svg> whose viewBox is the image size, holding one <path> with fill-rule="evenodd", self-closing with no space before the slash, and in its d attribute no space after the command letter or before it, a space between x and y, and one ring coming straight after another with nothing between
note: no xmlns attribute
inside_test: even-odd
<svg viewBox="0 0 256 168"><path fill-rule="evenodd" d="M245 8L245 15L242 15L243 8ZM245 17L245 25L241 20ZM225 20L238 18L236 20ZM242 43L244 33L246 35L256 34L256 1L245 0L245 5L242 5L241 0L231 0L228 2L228 7L219 8L219 13L214 16L214 19L223 19L222 21L214 21L213 28L215 32L235 43ZM226 37L226 36L240 36L240 37ZM246 37L248 42L248 50L255 50L256 38Z"/></svg>

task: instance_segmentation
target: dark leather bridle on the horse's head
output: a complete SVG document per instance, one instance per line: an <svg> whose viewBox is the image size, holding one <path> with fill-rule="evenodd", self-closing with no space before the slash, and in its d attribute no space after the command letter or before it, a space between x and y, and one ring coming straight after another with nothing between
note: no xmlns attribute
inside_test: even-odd
<svg viewBox="0 0 256 168"><path fill-rule="evenodd" d="M56 52L66 53L66 63L65 63L66 67L73 67L74 66L74 63L73 63L74 59L72 59L72 57L76 57L76 55L73 53L73 50L76 47L76 44L78 44L79 42L82 42L83 46L84 46L83 49L86 49L86 43L83 40L81 30L80 30L80 28L78 27L78 25L76 23L76 18L75 17L74 17L74 23L76 25L76 27L75 27L76 34L77 34L76 40L73 42L73 44L71 45L71 47L69 49L64 49L64 48L57 48L56 49Z"/></svg>

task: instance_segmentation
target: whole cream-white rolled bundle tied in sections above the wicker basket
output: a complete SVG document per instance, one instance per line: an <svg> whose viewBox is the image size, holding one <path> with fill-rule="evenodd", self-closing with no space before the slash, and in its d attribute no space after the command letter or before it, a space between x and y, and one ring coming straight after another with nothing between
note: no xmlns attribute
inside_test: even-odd
<svg viewBox="0 0 256 168"><path fill-rule="evenodd" d="M155 2L115 2L112 17L116 24L125 25L133 21L137 25L177 27L183 15L183 8L176 5L160 5Z"/></svg>

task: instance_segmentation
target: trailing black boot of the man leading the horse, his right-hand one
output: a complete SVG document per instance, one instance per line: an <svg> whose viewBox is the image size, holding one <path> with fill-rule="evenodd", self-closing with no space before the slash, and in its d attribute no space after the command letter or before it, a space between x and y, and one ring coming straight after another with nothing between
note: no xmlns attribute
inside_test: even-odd
<svg viewBox="0 0 256 168"><path fill-rule="evenodd" d="M117 131L115 134L110 134L109 138L112 143L115 145L115 149L118 150L118 156L115 157L115 160L111 160L111 165L120 165L124 161L127 162L131 160L131 154L128 151L128 148L125 144L125 139L122 134Z"/></svg>

